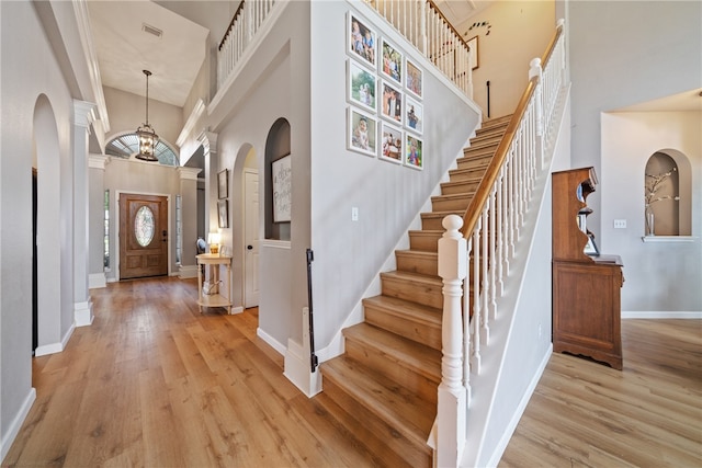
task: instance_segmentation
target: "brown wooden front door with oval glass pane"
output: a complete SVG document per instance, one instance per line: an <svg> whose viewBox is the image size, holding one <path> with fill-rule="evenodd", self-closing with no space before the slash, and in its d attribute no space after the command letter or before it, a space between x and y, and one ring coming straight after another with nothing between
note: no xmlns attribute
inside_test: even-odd
<svg viewBox="0 0 702 468"><path fill-rule="evenodd" d="M120 196L120 278L168 274L168 198Z"/></svg>

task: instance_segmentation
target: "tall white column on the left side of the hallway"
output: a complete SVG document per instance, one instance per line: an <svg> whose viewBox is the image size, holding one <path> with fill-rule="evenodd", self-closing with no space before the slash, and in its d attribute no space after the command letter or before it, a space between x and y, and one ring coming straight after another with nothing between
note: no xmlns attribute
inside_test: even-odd
<svg viewBox="0 0 702 468"><path fill-rule="evenodd" d="M88 135L95 119L95 104L73 100L73 320L76 327L92 323L88 235Z"/></svg>

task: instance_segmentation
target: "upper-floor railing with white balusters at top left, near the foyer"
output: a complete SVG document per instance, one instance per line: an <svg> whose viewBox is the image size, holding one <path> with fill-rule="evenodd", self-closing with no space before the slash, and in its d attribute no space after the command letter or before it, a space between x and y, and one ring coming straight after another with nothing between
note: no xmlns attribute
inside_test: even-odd
<svg viewBox="0 0 702 468"><path fill-rule="evenodd" d="M276 2L280 0L245 0L239 3L217 47L217 90L224 87Z"/></svg>

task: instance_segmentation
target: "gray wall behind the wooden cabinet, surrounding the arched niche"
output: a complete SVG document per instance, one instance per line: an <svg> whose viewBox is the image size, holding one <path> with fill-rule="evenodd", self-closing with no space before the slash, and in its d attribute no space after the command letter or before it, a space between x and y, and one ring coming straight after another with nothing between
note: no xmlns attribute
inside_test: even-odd
<svg viewBox="0 0 702 468"><path fill-rule="evenodd" d="M700 117L697 124L665 128L627 127L625 134L619 132L608 140L603 122L609 125L614 117L602 113L702 85L702 3L573 1L568 23L573 81L570 163L574 168L593 165L599 175L600 187L588 197L588 205L595 210L588 222L602 251L623 256L626 283L622 310L699 312L699 189L691 207L697 244L644 246L641 236L643 161L653 151L671 148L686 153L693 170L692 186L702 184L699 139L690 140L694 135L699 137ZM605 145L605 140L610 144ZM619 145L622 140L627 142L624 148L635 148L638 153L613 150L614 141ZM627 229L614 230L614 218L627 219Z"/></svg>

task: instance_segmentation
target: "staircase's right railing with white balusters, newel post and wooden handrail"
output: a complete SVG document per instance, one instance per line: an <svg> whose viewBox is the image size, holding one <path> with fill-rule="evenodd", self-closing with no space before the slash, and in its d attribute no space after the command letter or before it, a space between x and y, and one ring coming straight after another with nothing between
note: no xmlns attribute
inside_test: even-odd
<svg viewBox="0 0 702 468"><path fill-rule="evenodd" d="M446 231L439 242L444 308L435 422L438 466L460 463L471 404L471 376L480 374L490 323L499 317L499 299L510 274L524 213L544 169L544 149L555 136L554 114L566 82L563 28L561 20L543 60L531 61L526 90L463 219L450 215L443 221ZM465 240L465 249L456 248L458 239ZM456 253L458 250L461 253ZM461 283L462 307L461 294L456 293L456 284Z"/></svg>

